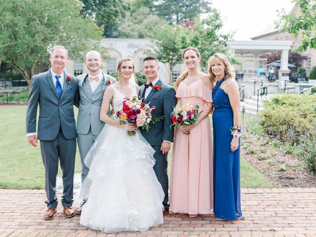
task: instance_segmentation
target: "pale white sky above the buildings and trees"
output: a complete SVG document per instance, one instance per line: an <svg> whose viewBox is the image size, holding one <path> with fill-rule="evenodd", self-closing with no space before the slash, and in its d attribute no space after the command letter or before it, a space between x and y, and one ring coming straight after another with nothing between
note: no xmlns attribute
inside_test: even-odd
<svg viewBox="0 0 316 237"><path fill-rule="evenodd" d="M276 10L289 12L292 0L210 0L221 12L223 32L236 30L234 40L250 40L277 20Z"/></svg>

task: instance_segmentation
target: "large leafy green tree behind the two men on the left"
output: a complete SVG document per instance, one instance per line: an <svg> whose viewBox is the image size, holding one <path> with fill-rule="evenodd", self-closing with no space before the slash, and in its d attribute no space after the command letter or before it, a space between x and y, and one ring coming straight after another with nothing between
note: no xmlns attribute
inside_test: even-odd
<svg viewBox="0 0 316 237"><path fill-rule="evenodd" d="M63 45L71 58L96 49L102 29L79 16L79 0L6 0L0 4L0 61L12 65L31 86L48 61L52 45ZM96 46L97 45L97 46Z"/></svg>

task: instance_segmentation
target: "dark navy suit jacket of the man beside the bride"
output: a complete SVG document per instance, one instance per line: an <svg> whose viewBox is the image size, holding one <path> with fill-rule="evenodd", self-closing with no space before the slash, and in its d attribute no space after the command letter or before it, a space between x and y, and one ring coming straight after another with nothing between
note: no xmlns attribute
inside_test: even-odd
<svg viewBox="0 0 316 237"><path fill-rule="evenodd" d="M174 128L170 128L172 123L170 114L173 111L173 107L177 104L176 92L173 87L162 82L160 79L157 81L156 85L161 86L161 89L155 90L152 87L148 87L151 91L146 99L144 99L145 86L142 85L139 87L140 99L143 99L144 103L150 102L150 106L156 107L154 115L164 116L163 119L160 119L158 122L151 125L148 132L141 129L143 137L152 146L161 145L163 140L173 142Z"/></svg>

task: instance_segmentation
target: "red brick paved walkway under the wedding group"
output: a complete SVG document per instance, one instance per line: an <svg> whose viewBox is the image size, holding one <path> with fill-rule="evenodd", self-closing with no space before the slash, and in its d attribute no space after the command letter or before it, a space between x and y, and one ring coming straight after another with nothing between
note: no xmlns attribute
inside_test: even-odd
<svg viewBox="0 0 316 237"><path fill-rule="evenodd" d="M146 232L107 235L79 225L78 216L66 219L61 206L53 220L44 221L43 190L0 190L0 237L316 237L316 188L241 192L243 218L237 221L172 214Z"/></svg>

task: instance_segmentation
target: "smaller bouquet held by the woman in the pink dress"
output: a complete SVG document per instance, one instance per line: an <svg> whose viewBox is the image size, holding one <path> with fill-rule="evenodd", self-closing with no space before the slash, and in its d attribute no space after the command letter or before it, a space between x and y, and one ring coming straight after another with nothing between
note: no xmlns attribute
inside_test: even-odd
<svg viewBox="0 0 316 237"><path fill-rule="evenodd" d="M191 104L174 107L170 114L170 118L172 119L170 127L195 124L198 118L198 108L198 105L193 106ZM190 134L190 132L186 134Z"/></svg>

